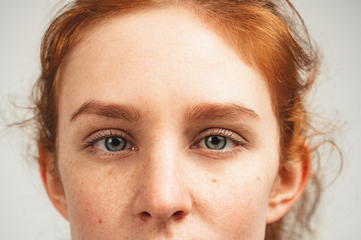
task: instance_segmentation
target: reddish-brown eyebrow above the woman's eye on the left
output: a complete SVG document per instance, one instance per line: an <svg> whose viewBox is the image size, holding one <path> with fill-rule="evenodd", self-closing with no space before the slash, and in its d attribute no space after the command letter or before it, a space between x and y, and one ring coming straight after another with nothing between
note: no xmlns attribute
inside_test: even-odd
<svg viewBox="0 0 361 240"><path fill-rule="evenodd" d="M138 122L141 117L140 112L132 105L87 101L72 114L70 122L82 114L95 114L106 118L122 118L132 122Z"/></svg>

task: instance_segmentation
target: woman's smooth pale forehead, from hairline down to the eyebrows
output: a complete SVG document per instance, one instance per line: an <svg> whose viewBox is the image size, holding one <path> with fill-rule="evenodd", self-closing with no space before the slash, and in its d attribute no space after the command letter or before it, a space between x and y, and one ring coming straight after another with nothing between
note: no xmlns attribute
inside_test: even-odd
<svg viewBox="0 0 361 240"><path fill-rule="evenodd" d="M70 52L61 79L67 94L60 96L71 109L92 98L159 108L179 99L241 101L260 115L268 114L260 106L270 107L262 77L211 25L184 8L138 11L99 23Z"/></svg>

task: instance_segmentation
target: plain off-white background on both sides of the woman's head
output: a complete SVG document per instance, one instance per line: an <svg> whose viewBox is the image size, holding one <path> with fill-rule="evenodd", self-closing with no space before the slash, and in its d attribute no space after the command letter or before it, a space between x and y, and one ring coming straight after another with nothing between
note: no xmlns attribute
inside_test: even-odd
<svg viewBox="0 0 361 240"><path fill-rule="evenodd" d="M5 117L13 114L9 98L26 103L39 74L41 36L55 9L62 6L57 2L0 0L0 109ZM361 239L361 1L293 2L323 52L315 109L329 119L337 111L339 123L345 122L343 134L336 135L345 165L337 181L326 188L318 239ZM67 222L43 190L38 167L21 155L26 140L14 131L0 132L0 239L70 239ZM327 161L338 161L325 160L326 166ZM329 166L332 172L333 164Z"/></svg>

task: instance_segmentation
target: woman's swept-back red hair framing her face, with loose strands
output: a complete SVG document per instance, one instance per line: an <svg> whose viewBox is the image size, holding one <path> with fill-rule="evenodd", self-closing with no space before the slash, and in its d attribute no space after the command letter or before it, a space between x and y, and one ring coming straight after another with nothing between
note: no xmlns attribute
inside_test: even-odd
<svg viewBox="0 0 361 240"><path fill-rule="evenodd" d="M306 138L311 130L304 106L306 93L318 74L318 52L313 49L299 13L288 1L269 0L77 0L52 21L41 46L42 72L34 87L38 145L56 152L59 71L65 58L89 28L106 18L141 8L177 4L210 25L240 57L264 76L279 122L279 174L294 159L308 161ZM287 13L288 12L288 13ZM56 156L56 154L55 154ZM57 162L47 164L57 174ZM313 187L319 182L311 173ZM319 194L301 196L298 208L267 225L266 239L292 239L308 230ZM299 232L298 232L299 231ZM287 235L289 232L290 235Z"/></svg>

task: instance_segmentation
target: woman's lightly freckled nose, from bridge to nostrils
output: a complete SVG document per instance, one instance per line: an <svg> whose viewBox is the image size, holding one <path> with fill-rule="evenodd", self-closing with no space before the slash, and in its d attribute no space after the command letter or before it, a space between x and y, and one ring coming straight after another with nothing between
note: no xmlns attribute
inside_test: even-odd
<svg viewBox="0 0 361 240"><path fill-rule="evenodd" d="M182 219L192 208L187 188L187 169L180 166L177 154L168 151L153 152L143 164L133 212L143 221L167 222Z"/></svg>

